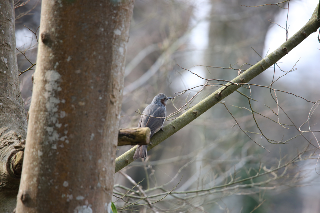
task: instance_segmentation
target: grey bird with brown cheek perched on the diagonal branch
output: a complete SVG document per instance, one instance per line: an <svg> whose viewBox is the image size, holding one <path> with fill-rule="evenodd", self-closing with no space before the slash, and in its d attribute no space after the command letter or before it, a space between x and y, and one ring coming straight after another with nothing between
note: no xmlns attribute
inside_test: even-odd
<svg viewBox="0 0 320 213"><path fill-rule="evenodd" d="M170 99L173 98L167 97L163 93L159 93L154 97L151 104L143 110L138 127L149 127L151 130L150 138L160 129L163 130L162 127L167 114L165 106ZM138 145L136 152L133 155L133 160L147 157L147 148L148 145Z"/></svg>

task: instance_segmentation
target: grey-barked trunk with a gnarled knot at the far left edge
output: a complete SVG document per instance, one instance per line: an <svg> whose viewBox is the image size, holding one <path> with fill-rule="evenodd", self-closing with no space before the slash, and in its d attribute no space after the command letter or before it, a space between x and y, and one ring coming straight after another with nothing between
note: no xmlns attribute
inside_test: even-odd
<svg viewBox="0 0 320 213"><path fill-rule="evenodd" d="M12 212L22 169L27 119L18 83L13 0L0 7L0 213Z"/></svg>

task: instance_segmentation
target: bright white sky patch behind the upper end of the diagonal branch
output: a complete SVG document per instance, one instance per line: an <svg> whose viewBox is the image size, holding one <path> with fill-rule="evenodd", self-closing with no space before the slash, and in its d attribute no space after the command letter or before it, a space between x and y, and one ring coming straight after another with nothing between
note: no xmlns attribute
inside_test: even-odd
<svg viewBox="0 0 320 213"><path fill-rule="evenodd" d="M318 1L305 0L305 1L290 1L289 4L289 16L288 16L288 31L289 37L298 32L311 18L311 15L316 8ZM287 8L287 5L285 6ZM297 15L299 14L299 15ZM281 27L286 27L286 17L287 10L281 10L280 13L275 17L275 20L271 22L276 22ZM276 50L282 43L285 42L285 30L272 24L268 30L265 39L265 47L263 50L263 56L272 51ZM301 84L301 82L308 82L309 87L317 86L316 81L310 81L310 79L319 78L319 67L320 67L320 43L318 42L319 29L316 33L309 35L302 43L295 47L289 54L285 55L282 59L278 61L278 65L284 71L289 71L292 69L294 64L299 60L296 67L297 70L289 73L283 79L280 79L282 83L286 83L287 86L292 85L292 89L300 90L298 85L306 86ZM280 63L282 62L282 63ZM277 71L275 78L283 75L284 72ZM263 75L267 76L268 80L272 80L273 67L269 68L267 71L263 72Z"/></svg>

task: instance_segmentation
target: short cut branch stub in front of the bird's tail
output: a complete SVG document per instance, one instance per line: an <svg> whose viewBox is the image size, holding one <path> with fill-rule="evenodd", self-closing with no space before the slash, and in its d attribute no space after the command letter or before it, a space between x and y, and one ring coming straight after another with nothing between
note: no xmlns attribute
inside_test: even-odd
<svg viewBox="0 0 320 213"><path fill-rule="evenodd" d="M148 145L150 133L149 127L119 129L118 146Z"/></svg>

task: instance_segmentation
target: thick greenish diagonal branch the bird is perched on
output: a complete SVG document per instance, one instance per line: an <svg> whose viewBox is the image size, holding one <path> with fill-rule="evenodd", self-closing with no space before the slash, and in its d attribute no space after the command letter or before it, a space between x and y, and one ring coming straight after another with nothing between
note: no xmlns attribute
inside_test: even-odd
<svg viewBox="0 0 320 213"><path fill-rule="evenodd" d="M284 42L280 47L278 47L275 51L270 53L264 59L260 60L254 66L247 69L242 74L238 75L236 78L232 80L233 83L248 83L254 77L262 73L264 70L275 64L278 60L288 54L294 47L300 44L305 38L307 38L310 34L317 31L319 28L319 22L316 19L317 8L313 12L311 19L307 22L305 26L303 26L296 34L294 34L291 38L289 38L286 42ZM163 129L164 131L158 131L151 138L151 143L148 146L148 150L152 149L166 138L169 138L178 130L182 129L188 123L199 117L205 111L210 109L212 106L217 104L219 101L236 91L240 85L227 83L225 86L213 92L206 99L202 100L192 108L190 108L187 112L180 115L177 119L166 125ZM133 147L126 153L122 154L118 158L116 158L116 172L130 164L133 159L133 154L136 150L136 147Z"/></svg>

